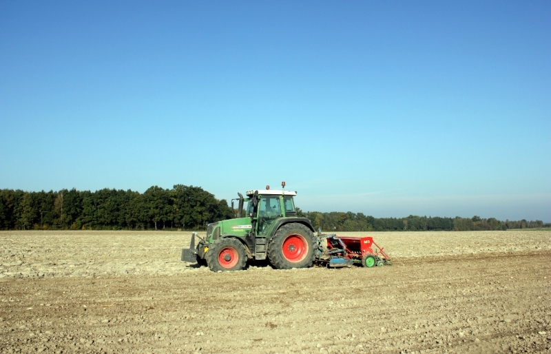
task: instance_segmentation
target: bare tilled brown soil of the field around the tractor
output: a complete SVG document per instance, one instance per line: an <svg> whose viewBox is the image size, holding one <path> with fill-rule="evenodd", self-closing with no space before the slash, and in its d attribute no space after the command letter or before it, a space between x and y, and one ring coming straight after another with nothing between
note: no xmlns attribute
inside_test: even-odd
<svg viewBox="0 0 551 354"><path fill-rule="evenodd" d="M551 352L551 231L354 234L394 265L213 273L189 233L2 231L0 352Z"/></svg>

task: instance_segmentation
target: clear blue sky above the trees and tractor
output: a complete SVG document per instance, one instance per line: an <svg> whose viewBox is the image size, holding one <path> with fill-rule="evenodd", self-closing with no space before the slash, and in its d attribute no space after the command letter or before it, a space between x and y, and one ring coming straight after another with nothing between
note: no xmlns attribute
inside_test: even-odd
<svg viewBox="0 0 551 354"><path fill-rule="evenodd" d="M0 1L0 188L551 222L550 1Z"/></svg>

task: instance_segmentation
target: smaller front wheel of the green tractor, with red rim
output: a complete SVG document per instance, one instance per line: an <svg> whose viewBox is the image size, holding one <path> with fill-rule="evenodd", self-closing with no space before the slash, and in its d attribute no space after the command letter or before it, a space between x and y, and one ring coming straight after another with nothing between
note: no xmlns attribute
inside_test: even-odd
<svg viewBox="0 0 551 354"><path fill-rule="evenodd" d="M235 238L220 238L211 244L205 259L211 271L240 271L247 264L247 251Z"/></svg>

